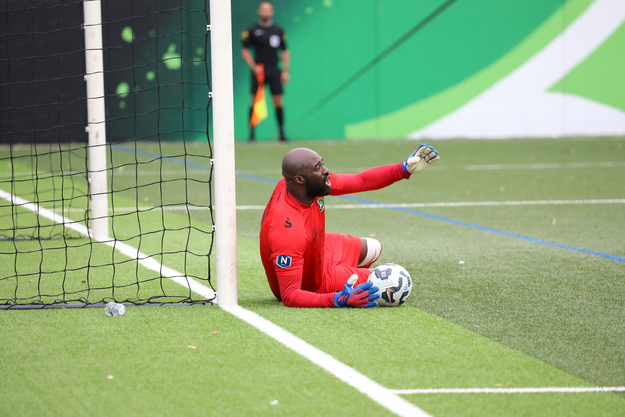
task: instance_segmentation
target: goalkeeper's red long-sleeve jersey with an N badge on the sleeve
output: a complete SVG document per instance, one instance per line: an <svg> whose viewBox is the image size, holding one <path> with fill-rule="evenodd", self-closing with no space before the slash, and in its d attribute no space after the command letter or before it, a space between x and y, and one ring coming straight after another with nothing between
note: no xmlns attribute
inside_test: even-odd
<svg viewBox="0 0 625 417"><path fill-rule="evenodd" d="M330 173L332 196L384 188L409 174L401 163L359 174ZM286 191L281 179L261 220L261 259L272 293L289 307L334 307L334 294L319 294L324 279L325 201L309 206ZM349 277L346 277L346 280Z"/></svg>

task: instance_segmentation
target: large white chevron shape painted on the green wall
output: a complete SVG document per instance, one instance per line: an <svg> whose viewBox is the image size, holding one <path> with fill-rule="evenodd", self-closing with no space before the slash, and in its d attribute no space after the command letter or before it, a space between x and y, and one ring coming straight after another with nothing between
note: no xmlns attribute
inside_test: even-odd
<svg viewBox="0 0 625 417"><path fill-rule="evenodd" d="M546 91L625 21L624 0L595 0L551 43L476 98L409 139L499 139L625 134L625 112Z"/></svg>

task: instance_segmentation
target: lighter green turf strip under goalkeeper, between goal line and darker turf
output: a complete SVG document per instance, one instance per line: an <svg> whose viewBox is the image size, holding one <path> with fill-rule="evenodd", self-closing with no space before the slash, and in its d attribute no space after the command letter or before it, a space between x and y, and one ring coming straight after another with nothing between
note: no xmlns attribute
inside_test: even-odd
<svg viewBox="0 0 625 417"><path fill-rule="evenodd" d="M424 303L424 295L419 294L417 299L414 298L415 294L421 292L421 283L414 287L406 306L349 310L340 316L332 309L284 309L270 294L259 299L257 294L263 288L267 291L268 286L261 268L257 268L254 273L254 265L259 263L259 255L255 249L257 243L239 239L239 253L251 258L239 258L239 264L248 272L244 278L246 281L241 283L244 288L239 298L241 305L332 354L384 386L394 389L592 386L587 379L576 378L546 361L532 357L535 354L524 354L517 349L507 348L467 329L470 326L459 326L427 313L425 309L418 307ZM427 301L436 304L436 300ZM446 299L438 301L449 308ZM309 323L315 324L310 326ZM557 346L562 348L561 344ZM622 353L620 354L622 357ZM372 360L372 357L376 359ZM610 365L607 364L603 369L608 366ZM614 369L614 374L618 372L618 369ZM618 383L620 376L614 374L611 382ZM492 410L502 415L584 415L592 414L597 408L605 415L619 415L625 407L625 400L613 393L584 397L586 400L583 407L577 401L562 403L566 396L557 393L532 395L529 403L524 403L526 399L522 395L525 394L445 395L458 395L465 401L472 401L475 395L489 395L484 401L487 403L486 408L478 408L474 414L469 415L487 414ZM575 397L577 394L568 395ZM454 413L453 407L447 408L444 402L437 406L428 401L429 408L426 407L422 399L431 396L434 395L414 394L406 397L434 415L458 413L458 410ZM516 404L522 404L526 409L521 411L516 408ZM514 408L507 409L510 406Z"/></svg>

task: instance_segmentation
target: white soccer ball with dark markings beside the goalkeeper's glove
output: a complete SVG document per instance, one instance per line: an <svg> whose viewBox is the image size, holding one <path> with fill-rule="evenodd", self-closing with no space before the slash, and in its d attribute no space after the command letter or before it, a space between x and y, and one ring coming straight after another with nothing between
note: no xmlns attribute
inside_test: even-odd
<svg viewBox="0 0 625 417"><path fill-rule="evenodd" d="M380 291L377 305L394 307L404 304L412 291L410 274L404 267L397 264L382 264L372 271L369 279Z"/></svg>

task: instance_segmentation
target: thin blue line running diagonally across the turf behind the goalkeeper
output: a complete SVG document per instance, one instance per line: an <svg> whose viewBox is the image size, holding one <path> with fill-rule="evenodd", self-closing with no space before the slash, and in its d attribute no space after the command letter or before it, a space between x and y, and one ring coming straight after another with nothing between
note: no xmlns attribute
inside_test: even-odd
<svg viewBox="0 0 625 417"><path fill-rule="evenodd" d="M124 146L111 145L111 148L113 148L116 151L134 154L134 149L126 148ZM145 151L137 151L136 154L141 155L141 156L146 156L148 158L161 158L161 155L159 154L145 152ZM185 164L184 159L171 158L168 156L164 156L163 161L171 162L171 163L179 164L179 165ZM192 166L193 168L205 169L207 171L211 170L210 167L207 167L201 164L188 162L188 161L186 165ZM259 176L251 175L251 174L236 173L236 176L237 178L251 179L252 181L261 181L262 183L268 183L268 184L273 184L273 185L278 183L276 179L264 178L264 177L259 177ZM484 231L491 232L491 233L502 234L504 236L509 236L511 238L523 239L523 240L534 242L534 243L544 244L546 246L553 246L554 248L570 249L571 251L577 251L577 252L587 253L591 255L601 256L602 258L612 259L612 261L625 263L625 258L621 258L621 256L595 252L595 251L589 251L588 249L576 248L575 246L568 246L566 244L551 243L551 242L547 242L541 239L530 238L529 236L523 236L522 234L504 232L502 230L487 228L486 226L480 226L479 224L472 224L472 223L466 223L464 221L448 219L446 217L436 216L436 214L424 213L423 211L416 211L416 210L412 210L409 208L392 207L392 206L388 206L387 204L377 203L377 201L371 201L371 200L366 200L364 198L357 198L357 197L347 196L347 195L346 196L334 196L334 197L343 198L343 199L350 200L350 201L356 201L357 203L374 204L376 206L379 206L380 208L387 208L387 209L396 210L396 211L403 211L404 213L417 214L417 216L423 216L423 217L427 217L431 219L441 220L441 221L445 221L447 223L452 223L452 224L459 224L460 226L467 226L469 228L480 229L480 230L484 230Z"/></svg>

